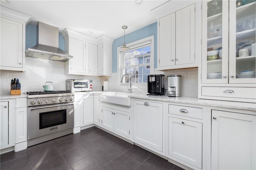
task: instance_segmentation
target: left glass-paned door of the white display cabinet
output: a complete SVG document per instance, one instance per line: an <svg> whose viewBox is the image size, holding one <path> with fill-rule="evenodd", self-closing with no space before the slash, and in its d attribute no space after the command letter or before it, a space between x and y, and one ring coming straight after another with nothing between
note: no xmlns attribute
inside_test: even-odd
<svg viewBox="0 0 256 170"><path fill-rule="evenodd" d="M202 83L228 83L228 0L202 2Z"/></svg>

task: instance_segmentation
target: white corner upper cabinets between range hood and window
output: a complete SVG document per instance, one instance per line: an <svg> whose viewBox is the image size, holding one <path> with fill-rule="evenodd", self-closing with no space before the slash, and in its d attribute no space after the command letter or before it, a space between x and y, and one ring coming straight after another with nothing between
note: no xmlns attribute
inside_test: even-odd
<svg viewBox="0 0 256 170"><path fill-rule="evenodd" d="M68 28L61 34L65 39L65 51L73 56L65 62L67 74L112 75L113 39L93 38Z"/></svg>

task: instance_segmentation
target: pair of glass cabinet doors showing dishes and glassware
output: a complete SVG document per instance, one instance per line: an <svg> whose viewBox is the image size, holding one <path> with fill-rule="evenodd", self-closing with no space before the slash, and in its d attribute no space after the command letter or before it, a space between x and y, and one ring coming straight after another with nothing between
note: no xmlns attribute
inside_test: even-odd
<svg viewBox="0 0 256 170"><path fill-rule="evenodd" d="M256 83L255 0L202 2L202 83Z"/></svg>

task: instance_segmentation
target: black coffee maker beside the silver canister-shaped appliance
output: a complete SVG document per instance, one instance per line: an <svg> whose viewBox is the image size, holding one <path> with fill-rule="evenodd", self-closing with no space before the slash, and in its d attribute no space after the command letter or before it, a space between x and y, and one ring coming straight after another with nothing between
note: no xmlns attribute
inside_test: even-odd
<svg viewBox="0 0 256 170"><path fill-rule="evenodd" d="M148 93L147 95L164 95L164 75L148 75Z"/></svg>

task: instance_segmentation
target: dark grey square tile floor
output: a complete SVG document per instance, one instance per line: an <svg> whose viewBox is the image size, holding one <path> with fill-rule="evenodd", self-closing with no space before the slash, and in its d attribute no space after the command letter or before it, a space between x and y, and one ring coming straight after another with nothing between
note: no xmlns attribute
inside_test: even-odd
<svg viewBox="0 0 256 170"><path fill-rule="evenodd" d="M97 127L0 155L1 170L182 170Z"/></svg>

